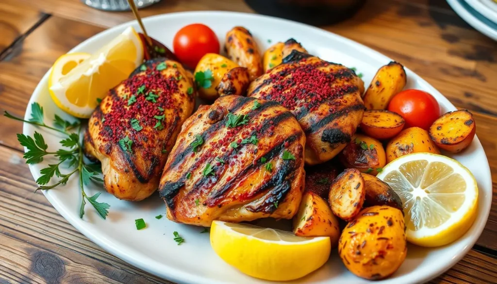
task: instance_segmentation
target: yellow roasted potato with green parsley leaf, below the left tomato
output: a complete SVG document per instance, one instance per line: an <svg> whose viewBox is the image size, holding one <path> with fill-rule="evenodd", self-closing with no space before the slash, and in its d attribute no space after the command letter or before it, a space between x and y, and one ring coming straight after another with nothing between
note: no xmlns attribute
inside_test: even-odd
<svg viewBox="0 0 497 284"><path fill-rule="evenodd" d="M195 68L195 83L201 98L214 100L219 97L216 87L224 75L231 69L239 67L228 58L215 53L204 55Z"/></svg>

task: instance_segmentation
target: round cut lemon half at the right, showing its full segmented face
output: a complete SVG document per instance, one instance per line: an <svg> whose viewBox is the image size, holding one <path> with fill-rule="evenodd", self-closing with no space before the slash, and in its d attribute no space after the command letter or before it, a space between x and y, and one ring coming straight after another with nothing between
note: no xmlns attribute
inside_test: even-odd
<svg viewBox="0 0 497 284"><path fill-rule="evenodd" d="M407 240L426 247L460 238L477 215L478 187L471 172L454 159L415 153L402 156L377 176L399 194Z"/></svg>

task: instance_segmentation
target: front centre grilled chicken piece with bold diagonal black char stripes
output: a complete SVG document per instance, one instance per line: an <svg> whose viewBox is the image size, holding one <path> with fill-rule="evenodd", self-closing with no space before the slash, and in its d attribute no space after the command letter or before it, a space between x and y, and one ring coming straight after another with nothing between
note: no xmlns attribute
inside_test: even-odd
<svg viewBox="0 0 497 284"><path fill-rule="evenodd" d="M186 120L161 179L169 220L290 219L304 190L305 135L283 106L238 95Z"/></svg>

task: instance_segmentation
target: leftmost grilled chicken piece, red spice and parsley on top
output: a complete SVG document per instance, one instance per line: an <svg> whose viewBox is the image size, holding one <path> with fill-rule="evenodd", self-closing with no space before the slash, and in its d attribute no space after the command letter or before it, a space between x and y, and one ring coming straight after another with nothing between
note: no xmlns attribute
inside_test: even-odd
<svg viewBox="0 0 497 284"><path fill-rule="evenodd" d="M195 105L181 65L151 60L109 91L88 121L85 154L100 160L104 188L138 201L159 186L167 153Z"/></svg>

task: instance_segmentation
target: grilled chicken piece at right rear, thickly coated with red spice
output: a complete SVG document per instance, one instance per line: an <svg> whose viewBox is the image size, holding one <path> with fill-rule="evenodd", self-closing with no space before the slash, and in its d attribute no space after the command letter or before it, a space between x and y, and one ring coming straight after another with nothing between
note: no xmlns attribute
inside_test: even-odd
<svg viewBox="0 0 497 284"><path fill-rule="evenodd" d="M250 83L248 96L288 108L306 133L306 164L326 162L350 141L364 113L364 82L354 71L293 50Z"/></svg>

